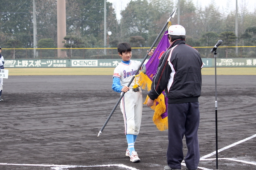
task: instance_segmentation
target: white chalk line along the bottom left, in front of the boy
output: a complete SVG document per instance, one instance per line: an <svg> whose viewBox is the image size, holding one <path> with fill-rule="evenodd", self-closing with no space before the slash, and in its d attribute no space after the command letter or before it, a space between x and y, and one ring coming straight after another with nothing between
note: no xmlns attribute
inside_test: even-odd
<svg viewBox="0 0 256 170"><path fill-rule="evenodd" d="M108 165L89 165L89 166L82 166L82 165L46 165L46 164L8 164L8 163L0 163L0 165L16 165L16 166L46 166L51 167L54 170L64 170L66 168L88 168L88 167L110 167L110 166L118 166L121 168L126 168L128 170L138 170L136 168L126 166L124 164L108 164Z"/></svg>

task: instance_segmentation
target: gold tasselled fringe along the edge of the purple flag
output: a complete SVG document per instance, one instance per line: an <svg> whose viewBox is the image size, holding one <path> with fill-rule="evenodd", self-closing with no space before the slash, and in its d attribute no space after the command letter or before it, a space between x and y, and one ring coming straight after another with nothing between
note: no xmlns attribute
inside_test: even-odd
<svg viewBox="0 0 256 170"><path fill-rule="evenodd" d="M138 85L145 90L145 88L147 87L148 91L151 90L151 84L152 81L150 80L150 78L148 78L148 76L145 74L145 72L140 72L140 74L138 74L135 78L137 78L138 80ZM146 97L146 100L143 104L147 104L148 102L148 95ZM156 102L158 102L158 105L156 105ZM164 131L168 129L168 117L164 117L164 119L162 119L161 115L162 113L164 113L166 111L166 105L164 102L164 95L161 93L158 98L156 100L154 100L154 105L152 107L150 107L151 109L153 109L154 112L154 116L153 116L153 122L156 125L157 129L160 131Z"/></svg>

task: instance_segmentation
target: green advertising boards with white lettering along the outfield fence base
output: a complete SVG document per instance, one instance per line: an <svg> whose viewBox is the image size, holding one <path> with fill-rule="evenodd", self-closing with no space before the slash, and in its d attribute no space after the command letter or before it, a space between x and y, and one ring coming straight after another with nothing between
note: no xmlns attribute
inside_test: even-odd
<svg viewBox="0 0 256 170"><path fill-rule="evenodd" d="M143 61L143 59L133 59ZM214 67L214 58L202 58L204 67ZM58 68L58 67L94 67L114 68L121 59L27 59L27 60L5 60L5 68ZM148 62L146 59L145 63ZM256 67L255 58L228 58L216 59L217 67Z"/></svg>

